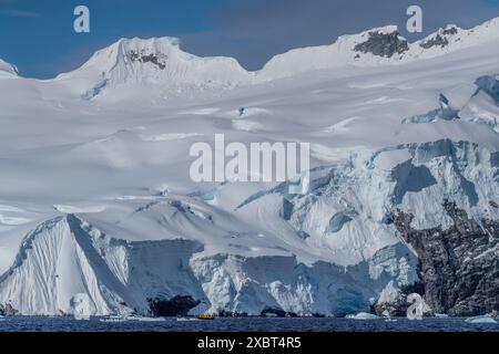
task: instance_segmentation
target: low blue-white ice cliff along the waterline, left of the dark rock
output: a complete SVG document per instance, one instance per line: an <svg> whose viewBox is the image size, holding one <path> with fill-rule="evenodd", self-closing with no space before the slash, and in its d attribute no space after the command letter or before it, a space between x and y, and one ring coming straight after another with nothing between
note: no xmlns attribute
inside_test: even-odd
<svg viewBox="0 0 499 354"><path fill-rule="evenodd" d="M403 284L417 279L415 257L401 246L348 268L324 261L307 267L295 257L193 258L202 250L192 240L124 242L75 216L58 217L26 237L0 279L0 302L41 315L72 314L77 294L88 296L91 315L191 310L338 315L368 311L388 279ZM193 299L192 305L172 308L175 298ZM154 311L159 302L163 308Z"/></svg>

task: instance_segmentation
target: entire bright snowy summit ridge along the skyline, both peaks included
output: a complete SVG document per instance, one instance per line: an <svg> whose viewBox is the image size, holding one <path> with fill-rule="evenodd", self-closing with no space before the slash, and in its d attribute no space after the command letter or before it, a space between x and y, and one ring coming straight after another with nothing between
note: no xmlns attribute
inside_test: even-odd
<svg viewBox="0 0 499 354"><path fill-rule="evenodd" d="M448 25L408 43L396 25L340 37L330 45L295 49L273 58L261 71L247 72L232 58L198 58L185 53L175 38L121 39L96 52L80 69L57 81L92 100L108 88L131 85L161 87L163 95L181 96L268 82L303 72L345 65L401 64L444 55L499 38L499 19L471 30ZM175 95L176 96L176 95Z"/></svg>

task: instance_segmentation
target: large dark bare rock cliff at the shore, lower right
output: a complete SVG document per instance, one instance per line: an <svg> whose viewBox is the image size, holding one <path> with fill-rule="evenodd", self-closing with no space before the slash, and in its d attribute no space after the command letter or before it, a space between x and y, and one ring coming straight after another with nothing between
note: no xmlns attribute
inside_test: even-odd
<svg viewBox="0 0 499 354"><path fill-rule="evenodd" d="M444 207L454 220L447 230L414 230L414 216L400 210L395 220L419 256L426 302L454 316L499 310L499 221L477 222L447 200Z"/></svg>

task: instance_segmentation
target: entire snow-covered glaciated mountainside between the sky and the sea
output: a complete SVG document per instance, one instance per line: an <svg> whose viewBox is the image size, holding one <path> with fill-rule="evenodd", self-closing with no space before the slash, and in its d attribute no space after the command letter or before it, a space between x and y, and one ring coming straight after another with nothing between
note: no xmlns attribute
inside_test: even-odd
<svg viewBox="0 0 499 354"><path fill-rule="evenodd" d="M49 81L0 64L0 312L499 310L498 23L373 29L254 73L171 38ZM221 133L310 143L308 194L194 183L191 146Z"/></svg>

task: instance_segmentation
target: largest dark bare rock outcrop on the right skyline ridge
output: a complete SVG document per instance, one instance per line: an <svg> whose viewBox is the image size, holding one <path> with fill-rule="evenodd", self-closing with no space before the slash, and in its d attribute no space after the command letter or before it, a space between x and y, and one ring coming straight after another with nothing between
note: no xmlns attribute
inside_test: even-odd
<svg viewBox="0 0 499 354"><path fill-rule="evenodd" d="M379 33L369 32L369 39L355 45L356 52L371 53L373 55L391 58L409 50L407 41L401 39L398 32Z"/></svg>

